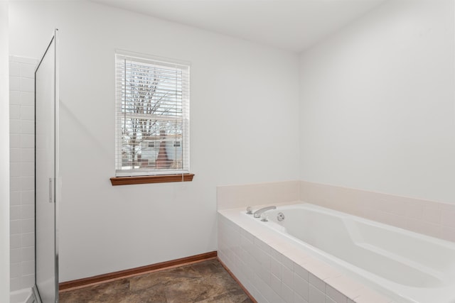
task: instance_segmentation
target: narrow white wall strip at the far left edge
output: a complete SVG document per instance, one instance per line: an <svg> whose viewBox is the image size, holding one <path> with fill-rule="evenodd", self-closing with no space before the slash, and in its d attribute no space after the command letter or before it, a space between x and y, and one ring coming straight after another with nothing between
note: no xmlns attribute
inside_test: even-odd
<svg viewBox="0 0 455 303"><path fill-rule="evenodd" d="M0 2L0 302L9 302L9 4Z"/></svg>

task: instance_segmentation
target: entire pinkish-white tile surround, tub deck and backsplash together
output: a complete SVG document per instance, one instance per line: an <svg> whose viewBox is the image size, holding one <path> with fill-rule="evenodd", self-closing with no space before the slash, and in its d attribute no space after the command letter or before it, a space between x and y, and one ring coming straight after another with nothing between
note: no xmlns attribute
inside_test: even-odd
<svg viewBox="0 0 455 303"><path fill-rule="evenodd" d="M287 239L252 224L257 222L240 220L240 211L246 206L258 209L304 201L455 241L454 204L305 181L223 186L218 187L217 198L218 256L258 302L372 303L392 299L311 255L301 255Z"/></svg>

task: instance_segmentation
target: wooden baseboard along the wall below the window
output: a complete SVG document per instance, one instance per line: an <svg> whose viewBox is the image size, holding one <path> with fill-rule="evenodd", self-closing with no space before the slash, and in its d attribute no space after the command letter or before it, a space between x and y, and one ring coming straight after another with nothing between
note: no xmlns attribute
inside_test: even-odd
<svg viewBox="0 0 455 303"><path fill-rule="evenodd" d="M205 260L210 260L217 257L217 252L211 251L210 253L201 253L200 255L191 255L190 257L180 258L176 260L145 265L139 268L132 268L129 270L119 270L118 272L109 272L103 275L95 275L93 277L85 277L82 279L61 282L58 285L59 292L74 290L76 288L85 287L87 285L98 284L102 282L107 282L111 280L118 280L124 277L131 277L134 275L143 275L146 272L156 271L156 270L164 270L167 268L173 268L176 266L187 265L190 263L201 262ZM223 265L224 266L224 265Z"/></svg>

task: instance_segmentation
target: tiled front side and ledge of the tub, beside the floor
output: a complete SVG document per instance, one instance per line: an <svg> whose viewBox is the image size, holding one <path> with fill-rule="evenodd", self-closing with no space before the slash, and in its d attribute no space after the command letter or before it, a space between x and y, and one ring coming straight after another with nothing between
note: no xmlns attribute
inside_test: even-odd
<svg viewBox="0 0 455 303"><path fill-rule="evenodd" d="M218 258L257 302L393 302L240 211L218 211Z"/></svg>

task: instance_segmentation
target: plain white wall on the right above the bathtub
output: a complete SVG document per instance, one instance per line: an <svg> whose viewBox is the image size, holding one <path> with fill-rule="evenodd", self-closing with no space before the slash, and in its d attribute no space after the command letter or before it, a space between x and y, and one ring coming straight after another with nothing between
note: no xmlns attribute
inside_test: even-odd
<svg viewBox="0 0 455 303"><path fill-rule="evenodd" d="M387 1L301 55L301 180L455 203L454 1Z"/></svg>

